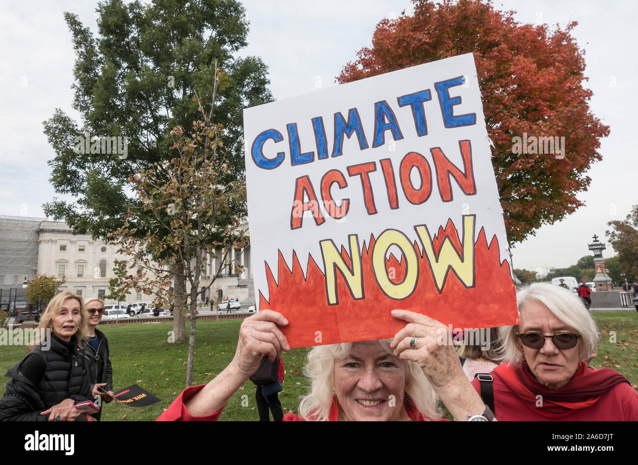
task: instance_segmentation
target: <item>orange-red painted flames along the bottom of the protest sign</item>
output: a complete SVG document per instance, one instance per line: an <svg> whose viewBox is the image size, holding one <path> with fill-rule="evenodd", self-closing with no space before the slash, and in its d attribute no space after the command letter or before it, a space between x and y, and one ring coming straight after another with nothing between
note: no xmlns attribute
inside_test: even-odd
<svg viewBox="0 0 638 465"><path fill-rule="evenodd" d="M438 254L445 237L461 252L461 241L451 221L445 229L439 228L433 238L433 248ZM383 339L394 335L405 325L390 315L390 310L405 309L433 317L443 324L455 328L487 328L518 323L516 310L516 288L506 260L500 262L500 249L496 236L487 245L484 229L474 245L475 286L466 288L459 278L447 271L445 286L439 293L430 272L424 250L414 243L419 257L419 278L415 291L402 301L392 300L383 293L375 280L372 267L372 250L375 238L363 245L361 257L364 279L362 300L352 298L346 281L337 273L338 305L329 305L325 293L325 275L311 255L308 257L306 277L293 252L292 270L279 252L278 278L272 275L266 263L269 300L259 293L259 308L277 310L290 324L283 329L292 347L307 347L336 342ZM345 248L341 255L348 266L352 266ZM405 274L403 255L397 260L394 255L386 259L386 268L394 267L393 282L401 282ZM319 333L320 332L320 333Z"/></svg>

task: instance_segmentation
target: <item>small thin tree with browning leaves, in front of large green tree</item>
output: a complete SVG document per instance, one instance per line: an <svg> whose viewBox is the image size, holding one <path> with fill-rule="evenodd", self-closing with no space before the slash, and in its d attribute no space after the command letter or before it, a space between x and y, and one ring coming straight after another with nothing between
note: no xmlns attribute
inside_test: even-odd
<svg viewBox="0 0 638 465"><path fill-rule="evenodd" d="M124 226L109 234L112 243L121 245L118 252L132 257L128 268L138 270L126 277L119 292L134 288L156 294L156 301L177 298L188 305L186 386L193 379L198 295L212 286L224 266L233 264L228 251L248 244L246 229L241 227L244 218L235 213L246 203L246 181L228 178L232 167L223 144L224 131L213 121L217 86L220 90L228 86L226 75L219 71L210 111L205 112L198 100L202 120L193 122L189 132L182 126L172 130L175 142L170 149L175 156L163 165L161 176L154 169L140 169L131 177L142 207L131 208ZM154 216L155 225L139 238L133 224L147 213ZM218 248L224 251L221 255L216 254ZM212 255L218 258L218 268L211 273L211 282L202 286L207 257ZM181 264L179 269L176 263ZM241 271L241 266L235 269ZM175 275L186 279L188 293L172 285ZM180 313L182 307L177 310Z"/></svg>

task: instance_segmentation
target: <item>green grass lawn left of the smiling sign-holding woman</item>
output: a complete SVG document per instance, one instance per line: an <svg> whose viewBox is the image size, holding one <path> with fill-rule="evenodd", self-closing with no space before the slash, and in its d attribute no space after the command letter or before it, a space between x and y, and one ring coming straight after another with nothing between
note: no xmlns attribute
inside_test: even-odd
<svg viewBox="0 0 638 465"><path fill-rule="evenodd" d="M193 384L207 383L232 360L242 320L198 321L195 343ZM103 421L155 420L186 386L188 342L168 343L172 323L101 325L108 338L115 390L136 384L162 402L147 408L131 408L110 402L105 404ZM187 333L188 334L188 333ZM296 411L299 396L304 393L306 377L301 367L308 349L293 349L284 355L286 376L279 399L284 413ZM24 346L0 347L0 372L6 371L27 354ZM0 395L8 378L0 381ZM242 406L242 395L248 395L248 406ZM246 404L246 402L243 402ZM219 420L258 420L255 385L247 381L228 400Z"/></svg>

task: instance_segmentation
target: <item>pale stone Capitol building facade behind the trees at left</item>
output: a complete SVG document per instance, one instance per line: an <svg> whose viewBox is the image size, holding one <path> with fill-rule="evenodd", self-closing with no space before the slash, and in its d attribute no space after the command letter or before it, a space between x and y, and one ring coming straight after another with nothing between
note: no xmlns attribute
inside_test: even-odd
<svg viewBox="0 0 638 465"><path fill-rule="evenodd" d="M234 267L226 264L215 276L219 270L220 257L225 255L221 252L218 250L216 255L207 256L200 286L207 286L213 277L215 279L211 288L200 295L200 299L203 301L208 297L221 300L229 297L239 299L242 304L255 303L250 247L228 251L232 260L244 266L241 274L234 273ZM60 291L74 292L85 300L103 299L110 293L108 280L114 277L115 260L127 258L130 257L117 253L116 246L93 240L90 234L74 235L64 222L0 216L0 287L5 291L21 288L24 278L32 280L38 275L49 275L66 279ZM133 292L127 302L144 301L151 304L154 298L153 294ZM116 302L107 299L106 303Z"/></svg>

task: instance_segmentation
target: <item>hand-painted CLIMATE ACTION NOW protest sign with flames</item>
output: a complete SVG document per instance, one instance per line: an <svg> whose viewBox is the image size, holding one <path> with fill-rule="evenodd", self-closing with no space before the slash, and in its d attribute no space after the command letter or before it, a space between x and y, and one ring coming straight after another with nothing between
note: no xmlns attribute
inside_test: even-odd
<svg viewBox="0 0 638 465"><path fill-rule="evenodd" d="M473 56L244 110L260 310L292 347L393 337L406 309L517 322Z"/></svg>

